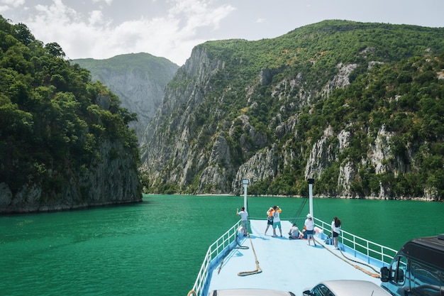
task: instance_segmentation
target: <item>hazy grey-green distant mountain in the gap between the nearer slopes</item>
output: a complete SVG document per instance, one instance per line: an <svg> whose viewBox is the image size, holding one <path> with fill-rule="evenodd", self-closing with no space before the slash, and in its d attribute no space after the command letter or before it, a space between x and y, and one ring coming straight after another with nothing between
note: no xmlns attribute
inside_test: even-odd
<svg viewBox="0 0 444 296"><path fill-rule="evenodd" d="M149 53L117 55L106 60L72 60L91 72L93 81L105 84L121 99L123 108L137 114L129 123L140 138L162 102L165 85L179 68L165 57Z"/></svg>

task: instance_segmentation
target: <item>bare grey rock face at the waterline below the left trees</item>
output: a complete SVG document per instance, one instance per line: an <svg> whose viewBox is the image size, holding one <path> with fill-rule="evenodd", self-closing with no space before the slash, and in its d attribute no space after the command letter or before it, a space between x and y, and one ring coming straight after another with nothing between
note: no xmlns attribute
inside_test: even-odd
<svg viewBox="0 0 444 296"><path fill-rule="evenodd" d="M105 141L98 153L101 161L91 164L84 172L52 171L52 177L60 177L62 190L44 189L44 182L23 185L15 194L5 182L0 183L0 213L52 212L66 209L124 204L142 200L138 189L136 160L131 157L109 158L108 155L126 155L124 143ZM55 187L57 187L55 185Z"/></svg>

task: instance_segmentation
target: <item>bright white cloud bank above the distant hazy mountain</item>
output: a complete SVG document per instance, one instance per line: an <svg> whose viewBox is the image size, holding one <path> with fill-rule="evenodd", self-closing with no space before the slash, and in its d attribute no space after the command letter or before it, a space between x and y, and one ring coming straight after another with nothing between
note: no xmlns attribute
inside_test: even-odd
<svg viewBox="0 0 444 296"><path fill-rule="evenodd" d="M205 41L197 37L197 31L216 30L223 18L234 11L230 5L212 6L211 0L167 3L170 9L165 16L140 17L112 25L113 19L104 16L103 11L82 14L62 0L53 0L48 6L35 6L36 13L27 26L44 43L57 42L67 58L103 59L145 52L182 65L192 48Z"/></svg>

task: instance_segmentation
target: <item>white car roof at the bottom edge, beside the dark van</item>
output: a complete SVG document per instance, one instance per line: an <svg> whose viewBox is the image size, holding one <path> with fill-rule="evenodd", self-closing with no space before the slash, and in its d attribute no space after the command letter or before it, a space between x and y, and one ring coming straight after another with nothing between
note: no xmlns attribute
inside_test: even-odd
<svg viewBox="0 0 444 296"><path fill-rule="evenodd" d="M326 285L336 296L387 296L389 292L367 280L326 280Z"/></svg>

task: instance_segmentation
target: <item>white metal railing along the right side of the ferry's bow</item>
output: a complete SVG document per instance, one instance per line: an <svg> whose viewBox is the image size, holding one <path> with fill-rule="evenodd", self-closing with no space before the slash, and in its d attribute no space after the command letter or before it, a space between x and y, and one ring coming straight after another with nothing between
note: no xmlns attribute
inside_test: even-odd
<svg viewBox="0 0 444 296"><path fill-rule="evenodd" d="M324 221L315 219L315 224L320 229L322 229L323 234L326 236L332 236L331 224L327 224ZM365 258L367 263L374 263L374 261L379 261L380 266L387 265L392 261L396 255L396 250L393 248L388 248L382 246L379 243L374 243L368 241L367 239L362 239L360 236L355 236L350 234L348 231L341 229L338 242L343 245L343 248L349 248L349 253L354 253L357 258Z"/></svg>

